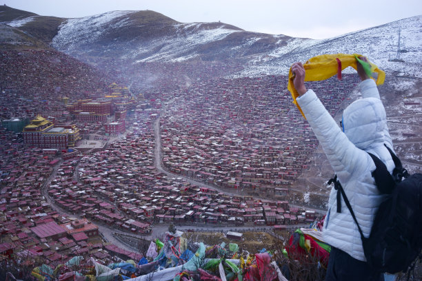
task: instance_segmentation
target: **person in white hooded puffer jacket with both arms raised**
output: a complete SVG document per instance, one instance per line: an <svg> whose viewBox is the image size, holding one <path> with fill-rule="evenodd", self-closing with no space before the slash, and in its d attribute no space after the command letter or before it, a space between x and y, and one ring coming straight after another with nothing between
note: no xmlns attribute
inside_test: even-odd
<svg viewBox="0 0 422 281"><path fill-rule="evenodd" d="M363 57L360 59L367 61ZM394 162L385 145L392 150L393 146L376 84L359 63L357 68L362 98L344 110L341 127L325 110L314 91L306 89L303 65L294 63L292 72L295 75L294 87L299 92L297 103L343 186L363 235L368 237L385 195L379 192L372 178L371 173L376 167L367 152L381 159L391 174ZM356 223L343 197L340 198L341 209L338 209L337 198L333 187L323 227L325 242L332 247L326 280L383 280L382 273L368 266Z"/></svg>

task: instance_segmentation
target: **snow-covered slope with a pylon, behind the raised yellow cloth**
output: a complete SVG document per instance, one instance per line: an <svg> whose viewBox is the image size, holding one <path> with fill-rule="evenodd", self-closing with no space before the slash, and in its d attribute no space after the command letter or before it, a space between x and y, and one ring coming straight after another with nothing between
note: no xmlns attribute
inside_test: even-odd
<svg viewBox="0 0 422 281"><path fill-rule="evenodd" d="M288 45L270 52L270 60L251 61L239 76L261 73L285 74L295 61L305 62L319 54L364 54L385 72L422 77L422 16L411 17L323 40L290 39ZM401 52L398 51L399 30ZM403 62L394 62L400 59Z"/></svg>

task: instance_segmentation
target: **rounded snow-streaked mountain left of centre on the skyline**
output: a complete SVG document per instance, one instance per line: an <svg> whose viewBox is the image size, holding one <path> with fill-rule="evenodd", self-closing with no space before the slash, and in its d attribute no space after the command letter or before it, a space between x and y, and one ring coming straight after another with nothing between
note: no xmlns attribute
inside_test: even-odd
<svg viewBox="0 0 422 281"><path fill-rule="evenodd" d="M213 61L272 52L289 38L225 23L179 23L152 11L117 11L64 21L52 46L80 59L88 54L135 63Z"/></svg>

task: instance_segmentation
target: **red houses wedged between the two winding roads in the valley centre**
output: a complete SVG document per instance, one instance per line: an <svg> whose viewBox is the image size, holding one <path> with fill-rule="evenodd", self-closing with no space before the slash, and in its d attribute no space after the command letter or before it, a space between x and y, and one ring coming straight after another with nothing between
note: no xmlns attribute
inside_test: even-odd
<svg viewBox="0 0 422 281"><path fill-rule="evenodd" d="M79 182L72 167L67 168L68 178L52 181L54 202L74 214L138 233L160 222L275 225L310 222L316 216L289 207L287 201L221 194L159 174L152 124L142 134L128 134L106 150L84 156L78 169ZM61 173L66 171L59 169Z"/></svg>

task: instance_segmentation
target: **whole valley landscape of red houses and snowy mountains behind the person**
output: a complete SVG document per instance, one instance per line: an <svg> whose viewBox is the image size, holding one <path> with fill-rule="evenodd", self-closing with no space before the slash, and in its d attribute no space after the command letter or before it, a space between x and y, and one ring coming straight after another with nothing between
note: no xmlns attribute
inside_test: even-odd
<svg viewBox="0 0 422 281"><path fill-rule="evenodd" d="M170 225L319 222L333 171L287 90L290 65L319 54L364 54L385 71L394 149L420 173L421 20L314 40L149 10L65 19L0 6L3 252L141 260L139 241ZM358 85L351 68L306 82L335 121Z"/></svg>

